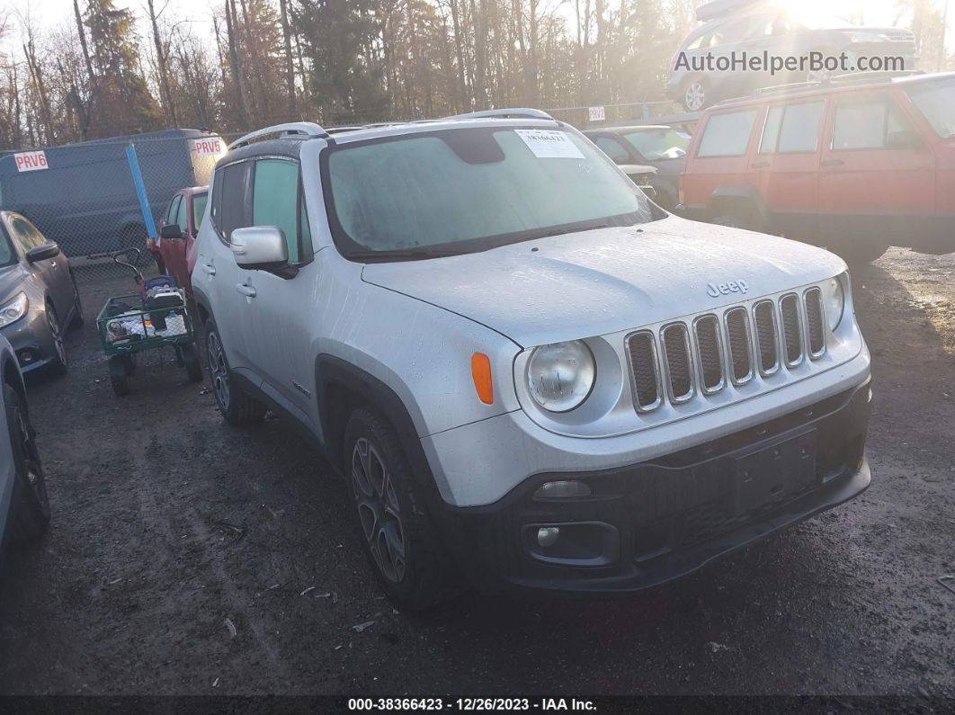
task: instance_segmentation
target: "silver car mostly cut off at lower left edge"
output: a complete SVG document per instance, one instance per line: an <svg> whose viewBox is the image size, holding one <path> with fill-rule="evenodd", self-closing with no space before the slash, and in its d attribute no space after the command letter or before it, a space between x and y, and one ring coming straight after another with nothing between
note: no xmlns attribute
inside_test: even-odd
<svg viewBox="0 0 955 715"><path fill-rule="evenodd" d="M0 335L0 559L8 542L40 536L49 522L50 499L23 376L13 348Z"/></svg>

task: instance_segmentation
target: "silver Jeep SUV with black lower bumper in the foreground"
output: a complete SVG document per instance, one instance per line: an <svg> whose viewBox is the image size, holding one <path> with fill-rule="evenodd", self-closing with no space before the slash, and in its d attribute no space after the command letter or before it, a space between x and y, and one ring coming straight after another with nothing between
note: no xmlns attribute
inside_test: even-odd
<svg viewBox="0 0 955 715"><path fill-rule="evenodd" d="M645 588L869 484L845 263L669 216L540 111L269 127L207 211L225 420L317 444L405 605Z"/></svg>

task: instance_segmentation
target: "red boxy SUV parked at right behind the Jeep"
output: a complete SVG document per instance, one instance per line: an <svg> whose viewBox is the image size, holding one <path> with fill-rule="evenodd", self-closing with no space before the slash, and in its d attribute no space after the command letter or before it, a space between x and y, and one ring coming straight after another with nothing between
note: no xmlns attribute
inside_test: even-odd
<svg viewBox="0 0 955 715"><path fill-rule="evenodd" d="M955 74L833 79L712 107L683 212L868 263L955 251Z"/></svg>

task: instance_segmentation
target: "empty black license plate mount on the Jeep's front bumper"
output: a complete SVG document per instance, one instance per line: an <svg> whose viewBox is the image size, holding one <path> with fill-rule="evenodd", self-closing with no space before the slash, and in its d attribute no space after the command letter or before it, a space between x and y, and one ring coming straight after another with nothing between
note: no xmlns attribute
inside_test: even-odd
<svg viewBox="0 0 955 715"><path fill-rule="evenodd" d="M733 460L734 512L765 509L816 483L817 433L809 430Z"/></svg>

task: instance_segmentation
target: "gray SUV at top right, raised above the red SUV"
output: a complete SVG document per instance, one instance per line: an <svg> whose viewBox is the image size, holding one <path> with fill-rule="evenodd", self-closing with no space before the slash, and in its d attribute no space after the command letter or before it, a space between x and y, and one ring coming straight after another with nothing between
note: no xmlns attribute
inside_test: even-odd
<svg viewBox="0 0 955 715"><path fill-rule="evenodd" d="M717 3L710 5L716 6ZM673 57L667 83L667 94L690 112L699 112L721 99L750 95L768 85L787 82L818 81L841 70L818 69L797 71L775 76L769 72L699 71L707 55L728 58L762 56L763 53L780 57L809 56L838 57L846 53L857 69L914 70L916 57L915 35L898 28L857 27L839 17L800 18L797 12L778 7L773 2L734 2L730 9L704 12L697 17L703 23L681 45ZM902 67L858 67L859 57L902 57ZM689 65L689 67L688 67Z"/></svg>

